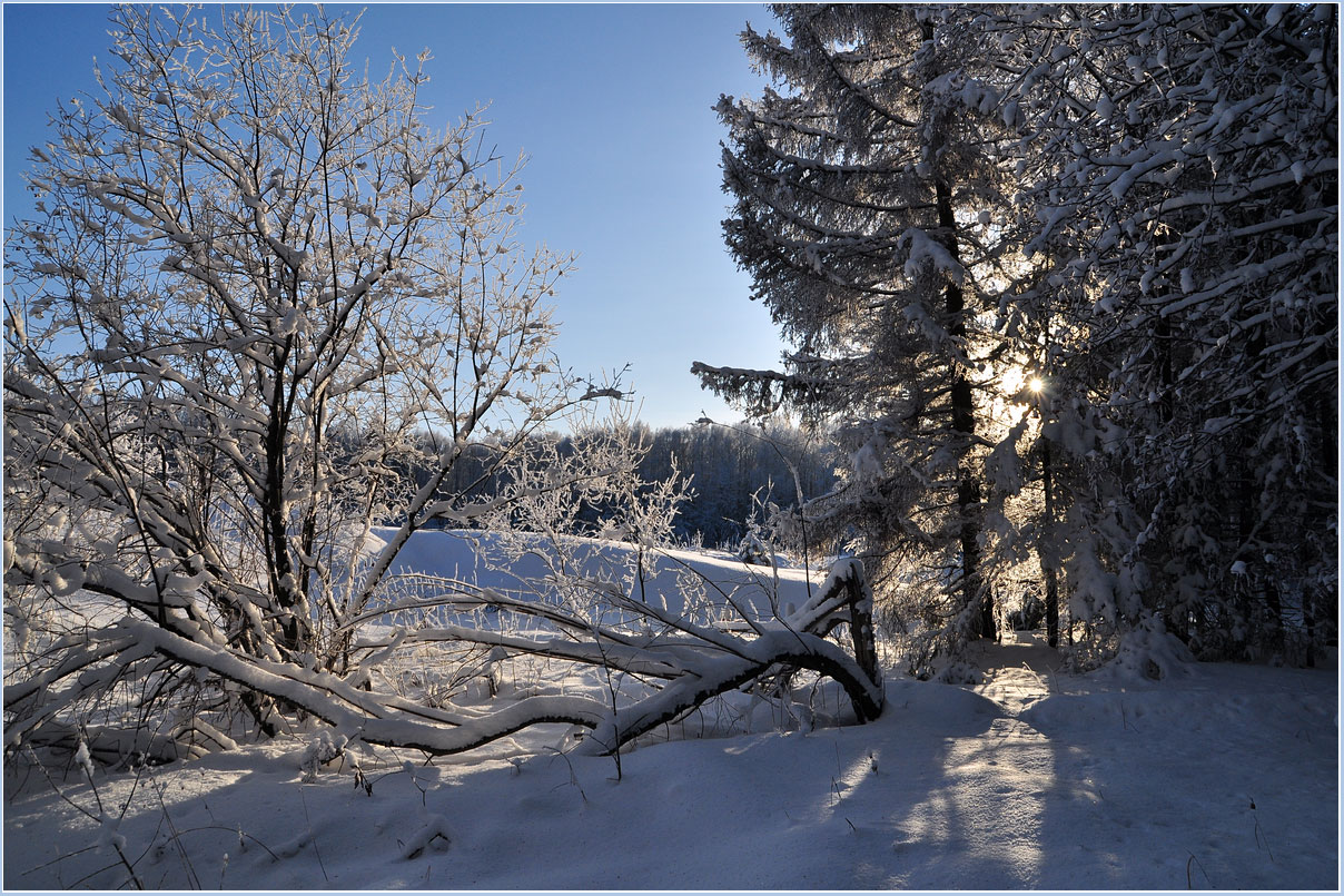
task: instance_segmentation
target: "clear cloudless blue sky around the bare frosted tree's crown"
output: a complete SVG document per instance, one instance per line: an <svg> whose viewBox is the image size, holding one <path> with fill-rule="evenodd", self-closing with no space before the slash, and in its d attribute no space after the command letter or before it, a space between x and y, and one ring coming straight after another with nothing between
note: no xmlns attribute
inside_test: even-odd
<svg viewBox="0 0 1344 896"><path fill-rule="evenodd" d="M359 7L328 5L328 12ZM58 97L93 85L106 7L4 7L5 221L28 207L27 148ZM758 94L738 34L759 5L370 5L358 55L382 77L390 50L429 47L435 124L491 102L487 137L531 157L524 238L575 252L556 293L562 361L577 373L632 365L653 426L735 420L692 361L777 366L769 313L723 246L720 93Z"/></svg>

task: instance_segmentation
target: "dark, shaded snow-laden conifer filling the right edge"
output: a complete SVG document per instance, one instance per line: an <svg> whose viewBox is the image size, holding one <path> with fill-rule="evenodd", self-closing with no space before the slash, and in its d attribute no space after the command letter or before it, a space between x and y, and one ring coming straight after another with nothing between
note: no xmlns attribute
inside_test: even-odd
<svg viewBox="0 0 1344 896"><path fill-rule="evenodd" d="M1034 38L1023 206L1048 272L1015 307L1073 335L1046 436L1087 476L1081 620L1308 663L1333 635L1336 15L1068 7Z"/></svg>

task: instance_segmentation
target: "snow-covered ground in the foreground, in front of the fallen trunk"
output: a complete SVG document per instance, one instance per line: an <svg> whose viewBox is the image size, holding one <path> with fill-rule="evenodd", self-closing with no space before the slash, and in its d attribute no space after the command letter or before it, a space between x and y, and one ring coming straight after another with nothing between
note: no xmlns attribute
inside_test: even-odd
<svg viewBox="0 0 1344 896"><path fill-rule="evenodd" d="M407 568L466 572L450 535L418 538ZM726 589L761 574L671 561ZM977 650L976 687L887 670L870 725L808 731L734 694L620 768L566 755L564 726L433 763L379 748L316 779L304 737L98 771L97 792L74 761L50 782L7 767L4 885L124 887L121 838L141 883L172 889L1339 887L1336 671L1149 682L1064 674L1031 636ZM125 806L116 829L81 813L98 800Z"/></svg>

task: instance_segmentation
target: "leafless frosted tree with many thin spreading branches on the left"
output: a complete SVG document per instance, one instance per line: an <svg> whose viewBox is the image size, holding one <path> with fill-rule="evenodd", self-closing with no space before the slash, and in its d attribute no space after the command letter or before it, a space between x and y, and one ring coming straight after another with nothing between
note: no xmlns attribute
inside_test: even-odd
<svg viewBox="0 0 1344 896"><path fill-rule="evenodd" d="M517 165L474 113L426 125L421 67L358 77L321 13L112 23L7 246L7 744L117 681L192 687L196 654L274 731L285 689L258 682L355 673L348 620L461 515L439 486L468 440L507 433L499 463L585 397L548 347L569 260L521 250ZM402 529L370 561L379 519Z"/></svg>

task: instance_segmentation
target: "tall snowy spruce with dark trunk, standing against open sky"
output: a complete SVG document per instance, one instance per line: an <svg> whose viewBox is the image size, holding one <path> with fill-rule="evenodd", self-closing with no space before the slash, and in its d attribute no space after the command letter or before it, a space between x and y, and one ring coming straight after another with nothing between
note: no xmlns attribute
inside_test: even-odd
<svg viewBox="0 0 1344 896"><path fill-rule="evenodd" d="M1003 219L997 46L961 7L780 5L743 34L784 91L724 97L728 248L796 350L784 371L695 366L747 410L836 425L852 465L816 502L879 601L941 643L992 635L984 558L982 277ZM919 658L922 657L922 658Z"/></svg>

